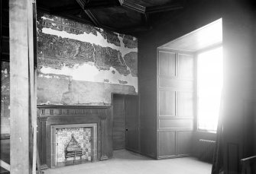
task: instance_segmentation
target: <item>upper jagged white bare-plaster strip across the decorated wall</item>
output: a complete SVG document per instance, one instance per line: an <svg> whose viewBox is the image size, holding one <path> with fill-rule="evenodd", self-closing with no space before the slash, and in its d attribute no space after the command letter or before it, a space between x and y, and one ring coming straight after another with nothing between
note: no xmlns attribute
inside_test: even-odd
<svg viewBox="0 0 256 174"><path fill-rule="evenodd" d="M119 52L121 52L122 57L124 57L129 52L138 52L138 48L129 49L125 47L125 44L123 43L123 38L118 34L118 39L120 40L121 46L115 46L113 43L108 43L107 40L102 36L101 33L97 32L97 36L92 33L86 33L83 34L73 34L73 33L67 33L66 31L59 31L59 30L53 30L51 28L44 27L42 29L43 33L55 35L55 36L61 36L63 38L69 38L73 40L79 40L86 43L94 43L96 45L102 46L102 47L110 47L112 49L116 49Z"/></svg>

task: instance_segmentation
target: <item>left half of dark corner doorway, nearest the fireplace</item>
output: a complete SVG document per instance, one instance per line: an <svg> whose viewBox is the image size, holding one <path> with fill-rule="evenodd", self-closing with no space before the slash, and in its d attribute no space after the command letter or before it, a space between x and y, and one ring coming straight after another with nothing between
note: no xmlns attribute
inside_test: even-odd
<svg viewBox="0 0 256 174"><path fill-rule="evenodd" d="M125 96L113 95L113 149L125 149Z"/></svg>

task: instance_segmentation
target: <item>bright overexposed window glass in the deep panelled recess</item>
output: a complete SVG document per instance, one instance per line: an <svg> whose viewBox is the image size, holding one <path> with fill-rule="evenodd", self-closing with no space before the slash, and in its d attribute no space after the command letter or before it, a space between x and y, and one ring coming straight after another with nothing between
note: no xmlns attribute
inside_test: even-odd
<svg viewBox="0 0 256 174"><path fill-rule="evenodd" d="M197 56L197 128L216 131L222 93L222 47Z"/></svg>

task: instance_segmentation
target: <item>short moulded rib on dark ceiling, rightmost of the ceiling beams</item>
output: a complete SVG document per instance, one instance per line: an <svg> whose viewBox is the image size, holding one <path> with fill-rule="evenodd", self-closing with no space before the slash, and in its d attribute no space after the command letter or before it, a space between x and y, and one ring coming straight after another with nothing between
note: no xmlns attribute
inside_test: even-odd
<svg viewBox="0 0 256 174"><path fill-rule="evenodd" d="M157 6L147 7L145 12L150 14L150 13L157 13L157 12L163 12L163 11L173 11L181 8L183 8L183 6L180 4L157 5Z"/></svg>

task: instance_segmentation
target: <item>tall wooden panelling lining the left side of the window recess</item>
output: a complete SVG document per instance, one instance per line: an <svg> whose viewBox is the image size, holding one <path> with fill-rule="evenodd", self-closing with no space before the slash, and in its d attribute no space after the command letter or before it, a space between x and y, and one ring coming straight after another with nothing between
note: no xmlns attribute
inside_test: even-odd
<svg viewBox="0 0 256 174"><path fill-rule="evenodd" d="M165 49L157 53L157 157L186 156L192 144L194 56Z"/></svg>

